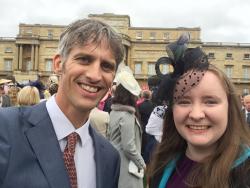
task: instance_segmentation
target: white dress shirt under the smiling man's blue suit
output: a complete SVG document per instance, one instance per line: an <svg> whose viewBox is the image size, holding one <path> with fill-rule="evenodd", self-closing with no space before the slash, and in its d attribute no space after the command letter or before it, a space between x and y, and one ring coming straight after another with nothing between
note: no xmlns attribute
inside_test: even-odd
<svg viewBox="0 0 250 188"><path fill-rule="evenodd" d="M67 144L66 137L72 132L76 132L80 136L74 156L78 188L96 188L96 164L93 141L88 130L89 120L82 127L75 129L57 105L55 95L48 99L46 108L55 129L62 155Z"/></svg>

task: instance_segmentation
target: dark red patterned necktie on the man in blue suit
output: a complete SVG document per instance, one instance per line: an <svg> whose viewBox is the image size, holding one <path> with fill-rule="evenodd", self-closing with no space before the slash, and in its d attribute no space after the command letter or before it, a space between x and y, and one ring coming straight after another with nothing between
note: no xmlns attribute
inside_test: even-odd
<svg viewBox="0 0 250 188"><path fill-rule="evenodd" d="M71 188L77 188L76 167L74 161L75 147L78 135L76 132L67 136L67 145L63 152L64 163L68 171Z"/></svg>

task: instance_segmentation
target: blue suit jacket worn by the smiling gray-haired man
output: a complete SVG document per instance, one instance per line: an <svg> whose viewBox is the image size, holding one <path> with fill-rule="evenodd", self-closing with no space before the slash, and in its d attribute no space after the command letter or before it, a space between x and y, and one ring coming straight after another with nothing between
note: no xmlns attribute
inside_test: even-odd
<svg viewBox="0 0 250 188"><path fill-rule="evenodd" d="M120 157L89 126L96 161L96 187L116 188ZM45 102L0 110L0 187L70 188L62 152Z"/></svg>

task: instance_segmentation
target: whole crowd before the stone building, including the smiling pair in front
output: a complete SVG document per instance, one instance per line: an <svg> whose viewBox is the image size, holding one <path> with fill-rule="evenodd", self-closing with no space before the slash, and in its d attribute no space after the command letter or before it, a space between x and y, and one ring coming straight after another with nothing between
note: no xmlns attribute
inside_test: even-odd
<svg viewBox="0 0 250 188"><path fill-rule="evenodd" d="M116 31L94 19L70 24L53 58L57 76L0 80L0 187L250 187L250 95L240 101L188 43L187 34L169 43L141 90L117 71Z"/></svg>

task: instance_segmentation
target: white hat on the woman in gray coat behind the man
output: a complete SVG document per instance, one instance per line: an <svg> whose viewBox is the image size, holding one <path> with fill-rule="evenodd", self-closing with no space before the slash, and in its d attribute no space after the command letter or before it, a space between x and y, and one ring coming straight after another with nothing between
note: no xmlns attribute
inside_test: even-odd
<svg viewBox="0 0 250 188"><path fill-rule="evenodd" d="M128 71L121 71L116 75L117 86L121 84L125 89L135 96L139 96L141 88L134 78L133 74Z"/></svg>

